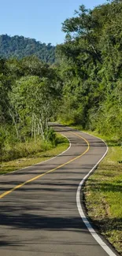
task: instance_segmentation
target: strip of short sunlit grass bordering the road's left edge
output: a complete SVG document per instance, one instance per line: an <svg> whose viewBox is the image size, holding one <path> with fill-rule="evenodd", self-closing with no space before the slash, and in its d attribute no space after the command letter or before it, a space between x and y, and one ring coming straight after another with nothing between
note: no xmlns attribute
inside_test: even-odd
<svg viewBox="0 0 122 256"><path fill-rule="evenodd" d="M35 165L41 161L45 161L49 158L54 158L57 154L61 154L62 151L68 148L68 139L62 135L57 134L57 146L50 149L43 148L30 154L28 157L17 158L13 161L2 161L0 162L0 175L13 172L17 169L22 169L30 165Z"/></svg>

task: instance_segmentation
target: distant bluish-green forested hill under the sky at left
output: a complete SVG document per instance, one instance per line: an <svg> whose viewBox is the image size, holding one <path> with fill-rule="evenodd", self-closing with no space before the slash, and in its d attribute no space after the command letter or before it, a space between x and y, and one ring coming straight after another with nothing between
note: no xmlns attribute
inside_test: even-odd
<svg viewBox="0 0 122 256"><path fill-rule="evenodd" d="M37 56L47 63L55 61L55 46L51 43L40 43L35 39L24 36L0 35L0 57L1 58L24 58L30 55Z"/></svg>

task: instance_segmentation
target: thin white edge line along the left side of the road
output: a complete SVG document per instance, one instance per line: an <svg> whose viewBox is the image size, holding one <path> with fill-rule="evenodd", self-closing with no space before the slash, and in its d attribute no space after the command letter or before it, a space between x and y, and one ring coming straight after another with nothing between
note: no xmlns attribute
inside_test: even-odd
<svg viewBox="0 0 122 256"><path fill-rule="evenodd" d="M68 139L65 135L63 135L63 134L61 134L61 135L62 135L63 137L65 137L66 139ZM71 148L72 145L71 145L70 139L68 139L68 142L69 142L69 147L67 148L67 150L63 151L61 154L65 154L65 152L67 152L67 151ZM59 157L61 154L57 154L54 158ZM20 171L22 171L22 170L24 170L24 169L28 169L28 168L30 168L30 167L32 167L32 166L41 165L41 164L43 164L43 163L46 162L46 161L51 161L51 160L53 160L54 158L49 158L49 159L47 159L47 160L45 160L45 161L40 161L39 163L37 163L37 164L35 164L35 165L29 165L29 166L27 166L27 167L24 167L24 168L15 170L15 171L13 171L13 172L5 173L5 174L2 174L2 175L3 175L3 176L6 176L6 175L10 175L11 173L17 173L17 172L20 172Z"/></svg>

